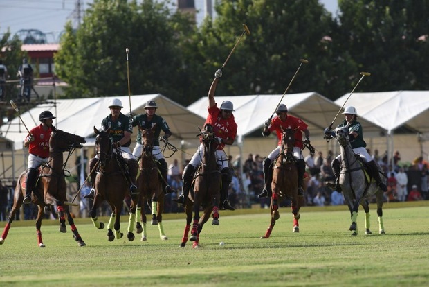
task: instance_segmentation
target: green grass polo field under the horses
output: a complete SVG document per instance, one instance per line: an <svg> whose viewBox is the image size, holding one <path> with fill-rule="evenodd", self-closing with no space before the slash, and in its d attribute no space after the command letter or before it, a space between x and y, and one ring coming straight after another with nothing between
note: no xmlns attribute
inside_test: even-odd
<svg viewBox="0 0 429 287"><path fill-rule="evenodd" d="M268 210L221 211L221 225L209 220L197 250L179 248L184 214L165 215L167 241L150 225L145 242L140 234L109 242L106 229L77 218L85 247L69 227L62 234L55 220L44 220L46 248L39 248L34 222L14 222L0 245L0 286L428 286L429 202L385 204L385 235L371 207L372 235L362 210L359 235L350 236L347 207L303 207L299 234L282 208L264 240ZM126 233L127 218L121 221Z"/></svg>

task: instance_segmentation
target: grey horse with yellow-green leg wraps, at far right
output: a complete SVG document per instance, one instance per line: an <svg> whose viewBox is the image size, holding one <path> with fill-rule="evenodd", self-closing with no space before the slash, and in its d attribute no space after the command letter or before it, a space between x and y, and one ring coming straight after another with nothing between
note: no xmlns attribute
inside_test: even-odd
<svg viewBox="0 0 429 287"><path fill-rule="evenodd" d="M385 234L383 227L383 191L378 189L374 181L368 180L364 168L365 164L361 162L360 155L356 155L352 150L348 134L347 127L336 128L335 130L336 141L340 143L341 150L339 183L352 218L352 225L350 225L349 230L352 231L352 236L358 235L358 209L359 205L362 205L365 211L365 234L372 234L369 220L369 199L375 195L378 214L378 232L379 234Z"/></svg>

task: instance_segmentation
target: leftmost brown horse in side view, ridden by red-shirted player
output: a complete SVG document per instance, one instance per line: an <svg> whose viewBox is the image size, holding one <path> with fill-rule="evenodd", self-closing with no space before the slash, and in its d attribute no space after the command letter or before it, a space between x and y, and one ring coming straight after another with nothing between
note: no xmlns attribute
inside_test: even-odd
<svg viewBox="0 0 429 287"><path fill-rule="evenodd" d="M85 246L77 228L73 217L70 214L69 206L64 205L67 200L67 186L65 180L65 167L67 160L76 148L82 148L82 143L86 143L83 137L75 134L69 134L62 130L57 130L52 127L51 138L49 139L49 159L46 164L39 167L39 179L33 189L32 202L38 207L36 219L37 242L39 247L46 247L42 241L42 219L45 215L45 207L49 208L52 205L57 205L58 219L60 220L60 232L67 232L65 224L65 216L73 232L73 238L77 241L77 245ZM69 155L64 162L63 153L68 151ZM22 205L22 200L26 195L26 173L24 171L19 175L17 185L15 187L15 195L13 200L12 210L10 211L8 223L4 227L3 234L0 237L0 244L3 244L8 236L10 225L15 218L15 214Z"/></svg>

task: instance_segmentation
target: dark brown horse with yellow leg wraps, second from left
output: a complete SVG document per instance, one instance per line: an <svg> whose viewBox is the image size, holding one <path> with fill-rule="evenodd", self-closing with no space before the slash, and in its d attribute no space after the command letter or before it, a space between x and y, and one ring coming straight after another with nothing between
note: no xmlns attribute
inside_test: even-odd
<svg viewBox="0 0 429 287"><path fill-rule="evenodd" d="M111 207L111 216L107 224L107 238L113 241L124 235L120 232L120 213L126 195L131 195L129 182L125 177L125 164L118 148L110 141L109 129L99 131L94 127L95 151L98 157L98 171L95 177L95 197L89 211L93 225L98 229L104 229L104 223L98 221L97 209L104 200ZM133 204L134 205L134 200ZM131 207L132 207L131 205ZM114 230L114 232L113 232Z"/></svg>

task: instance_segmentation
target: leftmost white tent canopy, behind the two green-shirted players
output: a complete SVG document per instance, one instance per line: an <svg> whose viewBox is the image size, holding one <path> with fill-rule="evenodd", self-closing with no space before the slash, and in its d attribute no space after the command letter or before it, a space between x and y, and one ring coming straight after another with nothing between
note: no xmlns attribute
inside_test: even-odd
<svg viewBox="0 0 429 287"><path fill-rule="evenodd" d="M122 114L129 114L129 96L114 98L122 101ZM109 115L110 111L107 106L110 100L111 97L79 98L42 103L21 114L21 118L27 128L31 129L39 124L39 114L44 110L49 110L57 117L54 120L56 128L90 138L94 135L93 127L100 128L102 119ZM144 113L145 103L151 100L156 101L156 105L158 105L156 114L167 121L173 138L198 141L195 137L195 134L198 133L197 127L203 125L205 119L161 94L131 96L133 114ZM5 137L15 142L15 149L22 149L27 132L19 118L13 119L8 125L3 125L1 129Z"/></svg>

